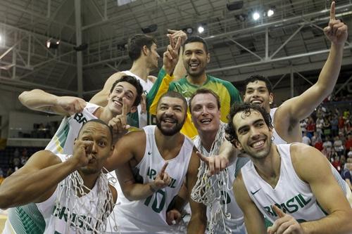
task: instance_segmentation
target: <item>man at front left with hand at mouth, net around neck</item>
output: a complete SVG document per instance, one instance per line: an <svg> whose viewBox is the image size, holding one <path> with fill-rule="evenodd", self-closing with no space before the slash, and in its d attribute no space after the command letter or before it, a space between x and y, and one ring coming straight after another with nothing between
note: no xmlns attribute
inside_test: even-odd
<svg viewBox="0 0 352 234"><path fill-rule="evenodd" d="M113 149L111 127L92 119L82 126L73 155L32 155L1 183L0 207L13 207L4 233L103 233L117 198L102 172Z"/></svg>

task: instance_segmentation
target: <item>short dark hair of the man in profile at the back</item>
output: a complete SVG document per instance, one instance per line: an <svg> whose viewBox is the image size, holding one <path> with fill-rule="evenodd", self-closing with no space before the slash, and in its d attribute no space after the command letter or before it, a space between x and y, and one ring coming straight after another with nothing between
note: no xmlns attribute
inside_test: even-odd
<svg viewBox="0 0 352 234"><path fill-rule="evenodd" d="M130 37L127 42L127 50L132 62L141 56L143 46L151 49L153 43L156 44L156 39L146 34L135 34Z"/></svg>

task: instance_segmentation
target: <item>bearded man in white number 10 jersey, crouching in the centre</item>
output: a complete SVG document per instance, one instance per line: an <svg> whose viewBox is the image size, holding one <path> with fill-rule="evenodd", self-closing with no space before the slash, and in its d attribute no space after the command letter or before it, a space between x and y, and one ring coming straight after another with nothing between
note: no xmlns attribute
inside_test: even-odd
<svg viewBox="0 0 352 234"><path fill-rule="evenodd" d="M123 192L116 206L121 233L176 232L168 226L165 213L184 181L191 192L199 167L194 144L180 134L186 113L187 101L180 93L165 93L158 102L157 125L131 132L116 144L108 167L117 168ZM188 233L204 233L206 207L189 202Z"/></svg>

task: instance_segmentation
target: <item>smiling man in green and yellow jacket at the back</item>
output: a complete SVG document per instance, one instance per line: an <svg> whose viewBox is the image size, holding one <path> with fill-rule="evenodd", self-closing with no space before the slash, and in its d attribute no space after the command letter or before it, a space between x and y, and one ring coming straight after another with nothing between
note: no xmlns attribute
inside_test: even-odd
<svg viewBox="0 0 352 234"><path fill-rule="evenodd" d="M220 96L222 122L227 122L227 115L234 102L241 101L239 91L230 83L206 74L206 65L210 62L210 53L206 41L201 37L189 37L183 44L183 65L187 75L178 81L170 82L168 89L163 86L163 80L170 80L172 74L161 69L158 79L147 98L147 110L151 115L156 114L156 103L159 97L166 91L177 91L182 93L185 98L190 98L192 93L199 88L211 89ZM164 58L165 60L165 58ZM164 82L165 83L165 82ZM206 121L206 120L205 120ZM153 119L150 121L153 124ZM181 130L182 134L194 137L197 134L194 124L191 122L191 114L187 112L187 119Z"/></svg>

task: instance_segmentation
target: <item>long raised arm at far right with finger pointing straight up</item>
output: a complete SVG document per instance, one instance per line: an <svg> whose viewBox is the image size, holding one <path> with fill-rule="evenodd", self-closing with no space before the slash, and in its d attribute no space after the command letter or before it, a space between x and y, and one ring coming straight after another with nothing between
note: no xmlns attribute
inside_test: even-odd
<svg viewBox="0 0 352 234"><path fill-rule="evenodd" d="M344 53L344 43L347 39L348 30L340 20L335 18L335 2L330 8L329 25L324 29L327 38L332 41L327 61L319 74L318 82L307 89L300 96L284 102L278 109L289 115L290 122L298 123L308 117L314 109L334 90L339 77L341 61Z"/></svg>

